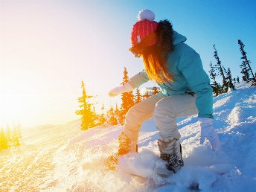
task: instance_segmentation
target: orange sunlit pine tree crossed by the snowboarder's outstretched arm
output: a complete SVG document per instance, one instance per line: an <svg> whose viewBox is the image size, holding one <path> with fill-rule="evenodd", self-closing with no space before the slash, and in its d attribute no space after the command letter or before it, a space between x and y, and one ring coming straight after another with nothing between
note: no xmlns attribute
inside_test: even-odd
<svg viewBox="0 0 256 192"><path fill-rule="evenodd" d="M127 83L129 81L129 77L128 77L128 71L127 68L124 68L124 77L123 77L123 81L122 81L122 85L124 86L125 83ZM124 117L127 114L128 110L134 105L134 100L133 100L133 95L132 95L132 91L131 92L126 92L126 93L122 93L121 95L121 113L120 113L120 123L123 124L124 123Z"/></svg>

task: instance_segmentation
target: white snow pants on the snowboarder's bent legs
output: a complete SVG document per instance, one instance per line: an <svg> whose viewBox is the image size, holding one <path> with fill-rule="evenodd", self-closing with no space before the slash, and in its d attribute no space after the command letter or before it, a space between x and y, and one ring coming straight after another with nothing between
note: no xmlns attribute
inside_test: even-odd
<svg viewBox="0 0 256 192"><path fill-rule="evenodd" d="M148 97L129 109L124 121L124 133L132 141L138 141L141 124L153 117L156 127L159 129L159 139L162 141L179 139L181 135L176 125L176 118L197 114L195 102L195 95L167 97L159 93Z"/></svg>

